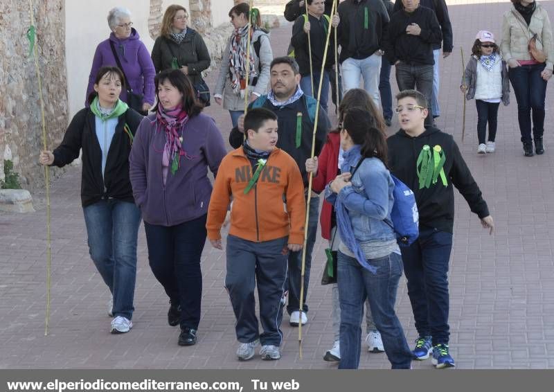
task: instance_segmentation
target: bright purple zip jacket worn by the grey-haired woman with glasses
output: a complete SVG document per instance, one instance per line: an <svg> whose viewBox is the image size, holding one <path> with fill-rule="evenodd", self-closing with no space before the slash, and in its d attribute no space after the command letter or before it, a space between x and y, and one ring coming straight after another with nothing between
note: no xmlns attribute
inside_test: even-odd
<svg viewBox="0 0 554 392"><path fill-rule="evenodd" d="M114 42L116 52L119 55L119 61L121 66L123 66L123 71L129 80L133 92L144 95L143 103L154 105L154 76L156 75L156 70L154 69L154 64L152 64L152 58L150 58L148 49L144 46L139 33L134 28L132 28L129 38L119 39L114 33L111 33L108 39L96 46L89 75L87 97L93 90L98 70L102 66L117 66L114 53L111 52L111 47L109 46L110 41ZM85 105L88 107L87 97L85 97ZM127 89L121 90L119 98L127 103Z"/></svg>

